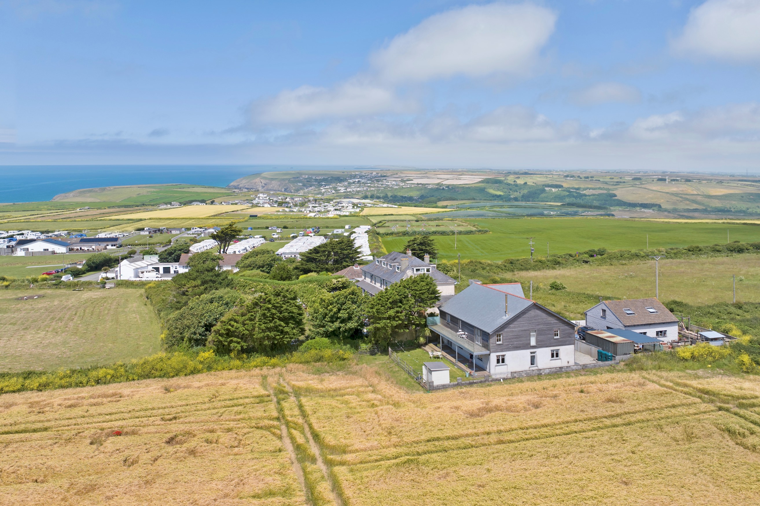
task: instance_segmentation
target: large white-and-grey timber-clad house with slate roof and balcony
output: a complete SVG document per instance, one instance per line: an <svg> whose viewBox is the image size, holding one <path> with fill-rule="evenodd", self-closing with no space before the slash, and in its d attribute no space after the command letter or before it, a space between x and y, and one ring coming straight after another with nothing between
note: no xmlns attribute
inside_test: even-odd
<svg viewBox="0 0 760 506"><path fill-rule="evenodd" d="M475 372L506 376L575 365L575 325L526 299L520 283L470 281L439 313L432 339Z"/></svg>

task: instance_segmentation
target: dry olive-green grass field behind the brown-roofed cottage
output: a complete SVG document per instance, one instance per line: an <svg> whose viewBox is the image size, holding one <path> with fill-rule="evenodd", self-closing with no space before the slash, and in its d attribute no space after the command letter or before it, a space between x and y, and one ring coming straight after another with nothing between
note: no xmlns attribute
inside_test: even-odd
<svg viewBox="0 0 760 506"><path fill-rule="evenodd" d="M695 305L732 302L732 275L736 275L736 300L760 300L760 258L757 255L661 259L659 264L660 300L675 299ZM513 272L509 275L523 282L526 294L530 280L533 280L543 287L548 287L552 281L561 281L570 291L621 299L654 297L654 262Z"/></svg>

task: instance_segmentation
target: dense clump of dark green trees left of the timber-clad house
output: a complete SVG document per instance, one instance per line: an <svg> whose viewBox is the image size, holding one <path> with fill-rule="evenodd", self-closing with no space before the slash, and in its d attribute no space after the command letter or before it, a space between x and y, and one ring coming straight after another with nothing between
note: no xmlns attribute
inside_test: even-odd
<svg viewBox="0 0 760 506"><path fill-rule="evenodd" d="M171 261L184 249L177 244L162 255ZM328 240L300 261L256 249L242 256L235 274L219 269L221 259L214 251L195 253L188 272L147 285L166 347L210 347L237 357L277 354L312 338L386 345L423 335L426 310L440 297L428 275L391 284L375 297L331 276L359 259L350 237Z"/></svg>

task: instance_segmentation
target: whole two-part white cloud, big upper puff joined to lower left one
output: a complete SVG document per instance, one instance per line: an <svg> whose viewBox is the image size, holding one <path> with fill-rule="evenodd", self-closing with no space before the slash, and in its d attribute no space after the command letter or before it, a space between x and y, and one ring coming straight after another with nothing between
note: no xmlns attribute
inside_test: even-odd
<svg viewBox="0 0 760 506"><path fill-rule="evenodd" d="M435 14L370 57L370 69L331 87L283 90L252 107L255 124L302 124L414 112L396 87L454 76L523 75L553 33L556 14L530 3L471 5Z"/></svg>

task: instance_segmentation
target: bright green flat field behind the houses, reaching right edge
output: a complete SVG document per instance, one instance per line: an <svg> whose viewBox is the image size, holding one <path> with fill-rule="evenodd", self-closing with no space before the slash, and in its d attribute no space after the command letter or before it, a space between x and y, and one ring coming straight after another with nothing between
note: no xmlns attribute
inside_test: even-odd
<svg viewBox="0 0 760 506"><path fill-rule="evenodd" d="M457 237L435 237L439 258L503 260L530 256L528 237L534 237L535 255L575 253L592 248L607 250L640 250L647 247L684 247L691 244L726 244L730 240L760 240L760 227L723 223L652 222L622 218L496 218L462 220L488 228L491 233ZM403 250L408 237L385 237L388 251Z"/></svg>

